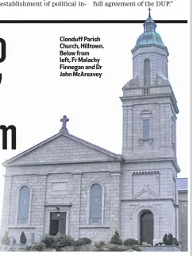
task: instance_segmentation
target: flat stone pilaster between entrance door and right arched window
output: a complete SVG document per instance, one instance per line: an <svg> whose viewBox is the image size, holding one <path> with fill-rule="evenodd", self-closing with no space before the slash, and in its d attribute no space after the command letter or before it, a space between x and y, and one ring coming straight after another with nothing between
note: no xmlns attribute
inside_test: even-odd
<svg viewBox="0 0 193 256"><path fill-rule="evenodd" d="M72 177L74 196L69 216L69 235L71 235L74 239L79 239L82 173L72 173Z"/></svg>

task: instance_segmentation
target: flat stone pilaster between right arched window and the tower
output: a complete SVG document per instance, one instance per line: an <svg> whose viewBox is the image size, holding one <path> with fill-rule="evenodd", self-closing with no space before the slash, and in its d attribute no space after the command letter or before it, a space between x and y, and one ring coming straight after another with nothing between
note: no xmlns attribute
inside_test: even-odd
<svg viewBox="0 0 193 256"><path fill-rule="evenodd" d="M110 235L121 232L121 179L122 173L110 173Z"/></svg>

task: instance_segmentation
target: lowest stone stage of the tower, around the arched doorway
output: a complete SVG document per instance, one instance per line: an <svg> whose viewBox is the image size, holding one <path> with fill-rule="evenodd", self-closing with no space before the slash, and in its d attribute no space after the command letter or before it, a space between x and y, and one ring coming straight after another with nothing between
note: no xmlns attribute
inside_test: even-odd
<svg viewBox="0 0 193 256"><path fill-rule="evenodd" d="M143 178L141 179L141 177ZM176 172L172 163L127 163L122 171L122 238L140 239L140 213L152 211L154 242L162 242L165 233L178 237L176 196L172 191ZM139 181L139 182L138 182Z"/></svg>

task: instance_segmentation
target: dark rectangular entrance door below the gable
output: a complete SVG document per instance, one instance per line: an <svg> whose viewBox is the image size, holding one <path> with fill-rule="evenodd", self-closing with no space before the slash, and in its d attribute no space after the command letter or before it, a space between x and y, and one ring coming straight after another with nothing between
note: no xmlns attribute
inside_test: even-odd
<svg viewBox="0 0 193 256"><path fill-rule="evenodd" d="M50 212L49 235L66 234L66 212Z"/></svg>

